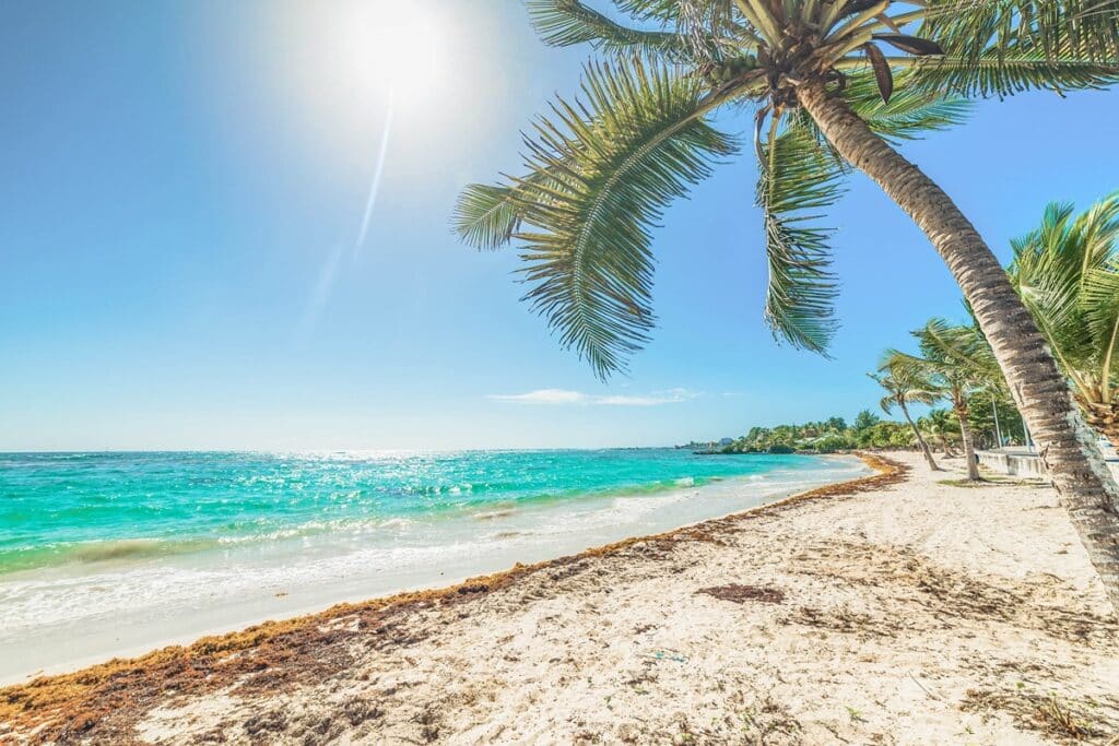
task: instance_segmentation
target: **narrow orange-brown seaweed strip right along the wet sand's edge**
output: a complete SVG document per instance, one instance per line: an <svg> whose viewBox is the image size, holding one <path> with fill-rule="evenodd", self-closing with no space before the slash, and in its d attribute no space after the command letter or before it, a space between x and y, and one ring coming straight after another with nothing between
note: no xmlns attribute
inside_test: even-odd
<svg viewBox="0 0 1119 746"><path fill-rule="evenodd" d="M298 636L312 629L337 624L344 617L405 613L410 607L453 603L474 594L485 594L507 587L521 578L549 568L563 567L587 558L608 556L638 545L703 540L700 537L705 528L749 520L752 517L770 511L781 511L806 501L846 497L881 489L904 479L904 474L908 472L908 468L878 455L869 453L852 455L862 460L875 473L815 488L773 502L733 511L722 517L704 519L664 532L631 537L577 554L533 564L517 563L505 570L468 577L460 583L439 588L404 591L358 603L345 602L333 604L316 613L299 614L279 621L270 620L260 624L242 626L232 632L191 635L194 639L191 644L169 644L147 654L133 658L113 658L76 671L40 676L23 683L0 687L0 724L7 725L9 729L22 730L29 725L35 727L32 724L46 724L60 711L70 712L75 708L86 710L88 705L81 703L86 699L86 696L94 692L98 686L122 674L130 679L138 676L147 678L153 674L163 678L167 674L167 669L180 669L191 659L205 661L206 667L220 665L223 661L228 661L245 650L267 644L270 641L285 635ZM91 720L87 725L92 726L93 721ZM0 736L2 735L3 730L0 730Z"/></svg>

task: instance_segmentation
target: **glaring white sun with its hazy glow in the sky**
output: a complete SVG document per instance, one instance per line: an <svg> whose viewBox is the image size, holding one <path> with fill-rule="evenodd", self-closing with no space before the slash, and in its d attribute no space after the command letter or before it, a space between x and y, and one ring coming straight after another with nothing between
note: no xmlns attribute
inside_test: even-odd
<svg viewBox="0 0 1119 746"><path fill-rule="evenodd" d="M366 189L392 128L399 185L491 122L486 102L507 83L486 38L496 16L464 0L274 0L252 6L247 44L214 69L338 183Z"/></svg>

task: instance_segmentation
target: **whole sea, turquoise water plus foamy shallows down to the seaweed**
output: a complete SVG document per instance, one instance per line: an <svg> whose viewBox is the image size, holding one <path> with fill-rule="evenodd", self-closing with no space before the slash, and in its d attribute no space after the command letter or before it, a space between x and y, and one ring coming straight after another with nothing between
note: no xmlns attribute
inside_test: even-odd
<svg viewBox="0 0 1119 746"><path fill-rule="evenodd" d="M843 456L671 448L0 454L0 678L446 584L867 472Z"/></svg>

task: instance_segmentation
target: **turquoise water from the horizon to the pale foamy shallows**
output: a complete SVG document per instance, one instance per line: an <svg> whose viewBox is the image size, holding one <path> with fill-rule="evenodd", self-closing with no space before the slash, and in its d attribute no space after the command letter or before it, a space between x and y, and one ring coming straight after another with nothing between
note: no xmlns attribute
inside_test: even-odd
<svg viewBox="0 0 1119 746"><path fill-rule="evenodd" d="M357 541L391 519L445 521L826 466L680 450L0 454L0 574L323 535Z"/></svg>

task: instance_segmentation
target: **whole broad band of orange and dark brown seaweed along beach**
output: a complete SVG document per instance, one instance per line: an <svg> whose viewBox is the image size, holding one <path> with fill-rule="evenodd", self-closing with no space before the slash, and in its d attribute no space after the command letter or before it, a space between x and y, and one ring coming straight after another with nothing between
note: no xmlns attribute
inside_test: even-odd
<svg viewBox="0 0 1119 746"><path fill-rule="evenodd" d="M266 622L231 634L207 636L191 645L157 650L137 659L115 659L74 673L43 677L0 689L0 737L28 743L113 743L137 740L134 725L150 710L177 698L220 690L244 695L280 693L321 682L354 667L369 650L415 644L432 625L424 617L448 606L461 607L536 576L577 574L593 557L620 556L636 547L664 551L676 544L733 533L762 514L805 502L854 495L905 479L908 468L882 456L863 460L876 474L831 484L759 509L652 537L627 539L571 557L472 578L438 591L402 593L359 604L339 604L319 614ZM669 549L670 550L670 549ZM443 615L443 623L453 617ZM255 724L262 727L264 723ZM269 726L275 723L269 721ZM432 729L435 729L435 725Z"/></svg>

